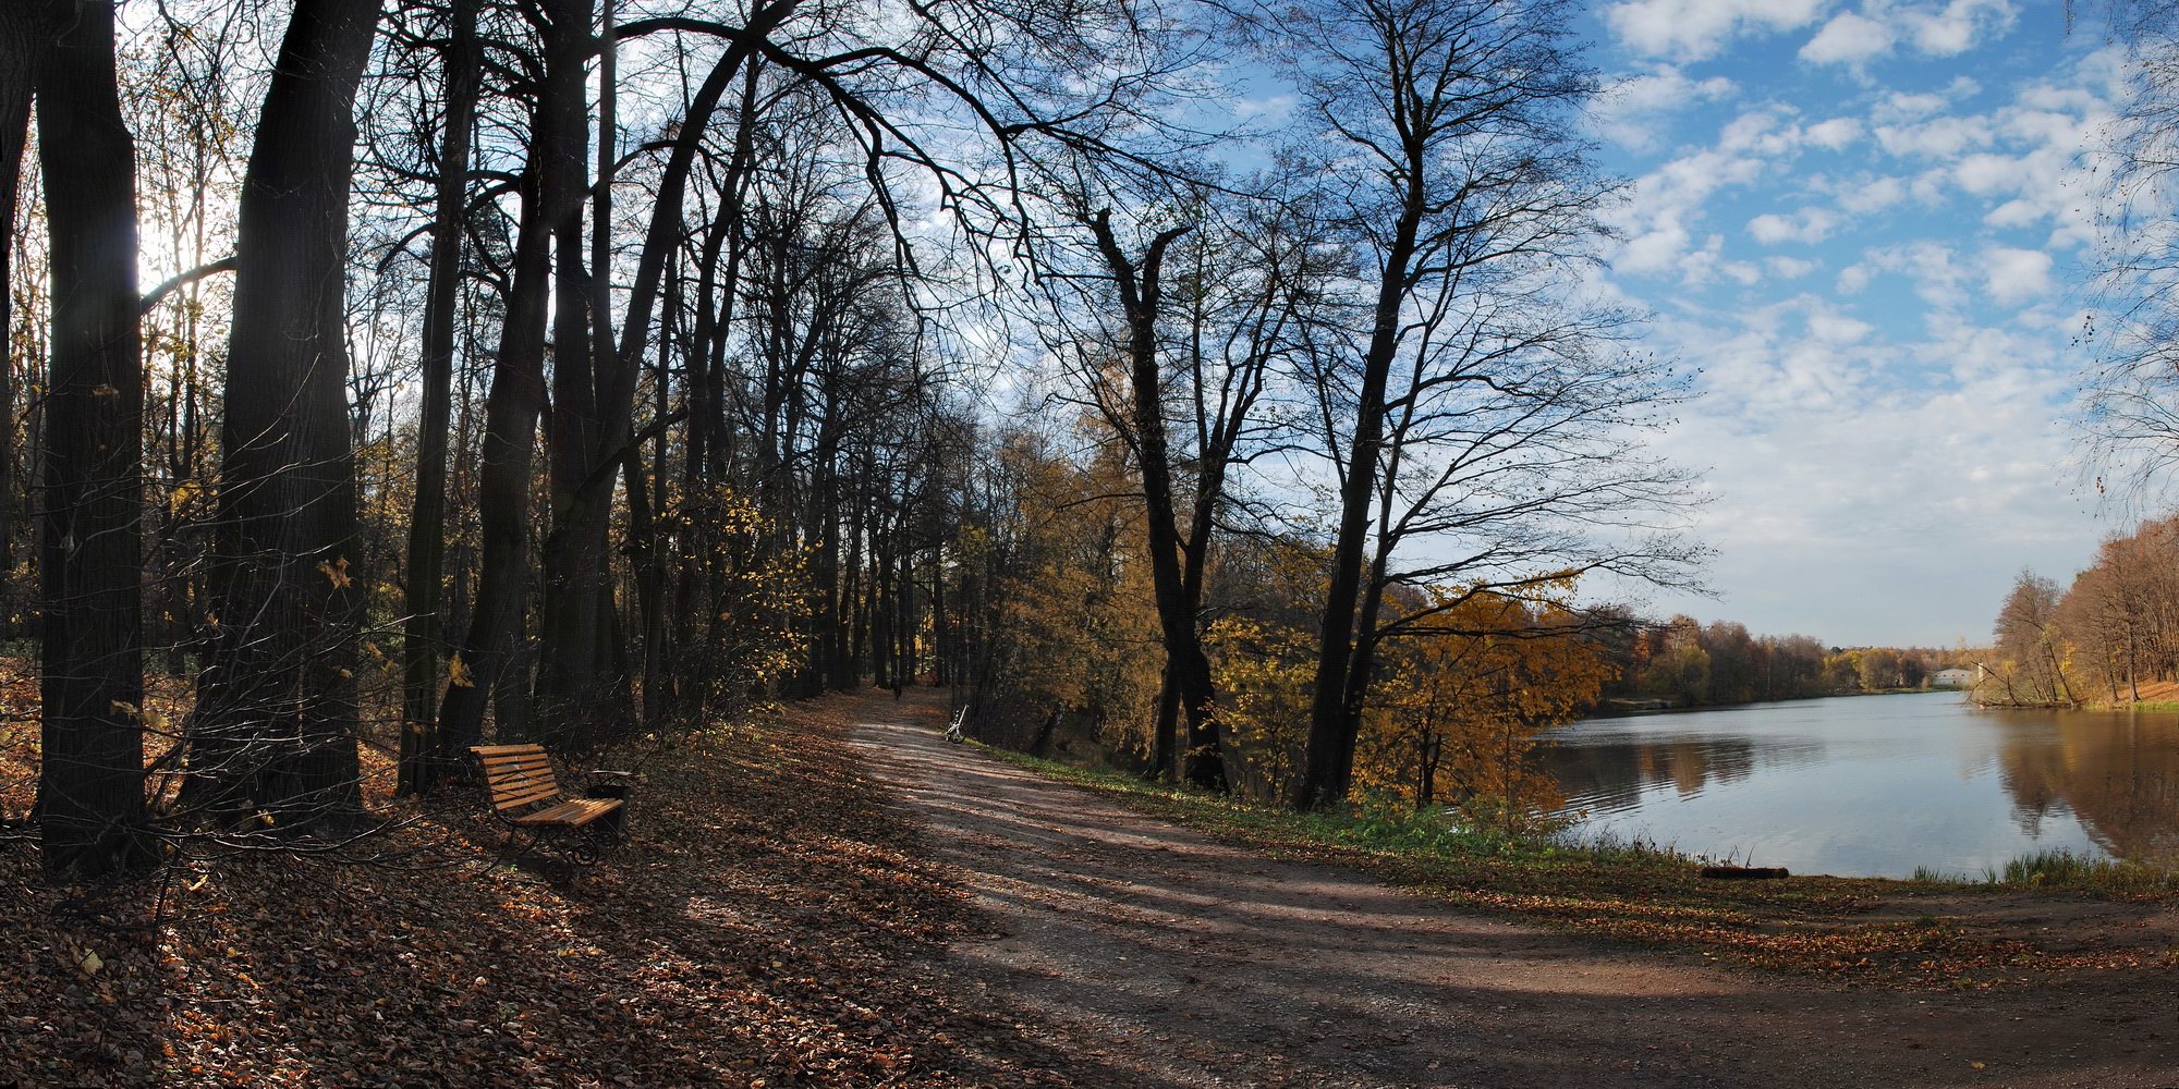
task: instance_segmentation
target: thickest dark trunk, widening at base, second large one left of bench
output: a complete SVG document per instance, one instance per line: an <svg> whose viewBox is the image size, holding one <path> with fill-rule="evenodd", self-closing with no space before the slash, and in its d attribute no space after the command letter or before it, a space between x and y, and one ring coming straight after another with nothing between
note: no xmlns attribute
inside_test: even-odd
<svg viewBox="0 0 2179 1089"><path fill-rule="evenodd" d="M299 0L242 181L227 351L218 636L192 778L214 804L357 806L362 595L344 338L349 115L377 0Z"/></svg>

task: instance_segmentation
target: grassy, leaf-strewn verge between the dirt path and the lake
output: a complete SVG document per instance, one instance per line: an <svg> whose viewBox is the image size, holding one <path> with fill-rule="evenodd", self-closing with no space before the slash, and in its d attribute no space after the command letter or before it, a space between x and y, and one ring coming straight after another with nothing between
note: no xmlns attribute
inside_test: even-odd
<svg viewBox="0 0 2179 1089"><path fill-rule="evenodd" d="M2026 984L2092 969L2162 969L2170 943L2142 919L2168 915L2168 871L2079 856L2024 856L1996 882L1922 871L1915 878L1802 876L1704 880L1702 865L1643 843L1506 836L1442 817L1299 815L1039 760L976 745L1039 775L1087 786L1148 817L1170 819L1279 858L1371 873L1466 908L1545 926L1695 950L1750 967L1902 989ZM2096 919L2101 954L2074 956L2083 934L2020 932L2013 917ZM1850 954L1848 954L1850 952Z"/></svg>

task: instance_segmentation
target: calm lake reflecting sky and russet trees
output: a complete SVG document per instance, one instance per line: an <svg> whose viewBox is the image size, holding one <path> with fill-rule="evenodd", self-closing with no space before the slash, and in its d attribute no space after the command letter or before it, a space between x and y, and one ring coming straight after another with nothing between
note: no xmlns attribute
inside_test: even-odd
<svg viewBox="0 0 2179 1089"><path fill-rule="evenodd" d="M2035 849L2179 865L2179 714L1863 695L1551 732L1578 832L1795 873L1981 878Z"/></svg>

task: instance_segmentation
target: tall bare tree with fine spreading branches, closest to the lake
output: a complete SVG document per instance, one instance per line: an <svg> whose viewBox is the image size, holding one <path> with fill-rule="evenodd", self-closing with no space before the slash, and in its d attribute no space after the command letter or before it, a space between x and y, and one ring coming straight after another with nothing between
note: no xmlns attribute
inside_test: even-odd
<svg viewBox="0 0 2179 1089"><path fill-rule="evenodd" d="M1687 481L1628 462L1621 438L1678 396L1669 372L1612 353L1619 318L1575 298L1610 187L1573 129L1595 83L1569 22L1558 0L1331 0L1297 24L1368 268L1366 327L1325 340L1307 375L1340 518L1297 808L1347 795L1395 582L1482 592L1691 558L1586 531ZM1397 568L1423 538L1447 555Z"/></svg>

